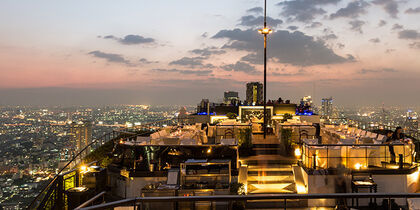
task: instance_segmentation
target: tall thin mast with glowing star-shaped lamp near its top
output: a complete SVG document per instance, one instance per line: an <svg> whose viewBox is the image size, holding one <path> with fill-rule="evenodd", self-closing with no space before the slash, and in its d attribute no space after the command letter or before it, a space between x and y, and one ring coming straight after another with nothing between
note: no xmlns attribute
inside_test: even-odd
<svg viewBox="0 0 420 210"><path fill-rule="evenodd" d="M267 0L264 0L264 28L258 30L260 34L264 35L264 139L267 136L267 35L273 31L267 28Z"/></svg>

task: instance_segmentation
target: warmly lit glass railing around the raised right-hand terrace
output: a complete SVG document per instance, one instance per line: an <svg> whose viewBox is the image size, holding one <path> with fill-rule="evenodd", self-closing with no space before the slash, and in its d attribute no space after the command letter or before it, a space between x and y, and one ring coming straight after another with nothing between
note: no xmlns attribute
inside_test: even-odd
<svg viewBox="0 0 420 210"><path fill-rule="evenodd" d="M328 169L345 166L364 170L371 166L387 168L391 160L405 166L414 163L413 144L307 144L302 146L302 164L306 168ZM390 148L394 150L392 158ZM391 149L391 150L392 150ZM393 168L394 167L394 168ZM388 167L395 169L393 167ZM401 166L397 166L399 168Z"/></svg>

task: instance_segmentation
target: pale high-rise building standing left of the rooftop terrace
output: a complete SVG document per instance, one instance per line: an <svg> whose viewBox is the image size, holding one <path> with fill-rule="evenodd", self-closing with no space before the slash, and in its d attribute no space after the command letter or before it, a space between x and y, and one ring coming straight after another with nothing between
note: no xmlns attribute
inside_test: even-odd
<svg viewBox="0 0 420 210"><path fill-rule="evenodd" d="M71 141L77 150L83 149L92 142L92 122L73 122L70 124Z"/></svg>

